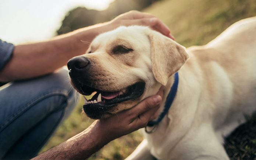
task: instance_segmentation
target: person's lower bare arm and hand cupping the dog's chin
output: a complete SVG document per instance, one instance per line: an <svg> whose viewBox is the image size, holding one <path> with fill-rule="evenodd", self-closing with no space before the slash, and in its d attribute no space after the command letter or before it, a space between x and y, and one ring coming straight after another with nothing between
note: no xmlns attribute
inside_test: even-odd
<svg viewBox="0 0 256 160"><path fill-rule="evenodd" d="M129 110L96 120L85 131L33 159L86 159L110 141L145 127L148 121L155 119L162 96L160 89L157 95Z"/></svg>

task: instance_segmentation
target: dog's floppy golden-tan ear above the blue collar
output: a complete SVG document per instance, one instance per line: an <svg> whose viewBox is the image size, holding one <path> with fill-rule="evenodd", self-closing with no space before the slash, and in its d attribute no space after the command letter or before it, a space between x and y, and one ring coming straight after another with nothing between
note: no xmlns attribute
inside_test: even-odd
<svg viewBox="0 0 256 160"><path fill-rule="evenodd" d="M189 58L185 47L156 31L149 33L153 74L166 85L168 78L181 68Z"/></svg>

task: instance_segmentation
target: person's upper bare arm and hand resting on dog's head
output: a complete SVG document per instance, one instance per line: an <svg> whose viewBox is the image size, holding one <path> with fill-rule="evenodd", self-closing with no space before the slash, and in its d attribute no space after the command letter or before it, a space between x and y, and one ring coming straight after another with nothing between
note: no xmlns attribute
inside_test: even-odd
<svg viewBox="0 0 256 160"><path fill-rule="evenodd" d="M84 54L95 36L120 25L150 26L173 38L167 26L158 18L150 14L130 11L112 21L78 29L45 42L15 46L13 57L0 72L0 81L28 79L54 72L66 65L70 58Z"/></svg>

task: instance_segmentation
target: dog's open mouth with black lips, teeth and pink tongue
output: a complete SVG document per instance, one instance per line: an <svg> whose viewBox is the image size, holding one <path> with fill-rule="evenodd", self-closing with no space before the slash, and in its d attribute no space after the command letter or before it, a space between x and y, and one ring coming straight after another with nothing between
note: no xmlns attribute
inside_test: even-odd
<svg viewBox="0 0 256 160"><path fill-rule="evenodd" d="M118 103L140 97L143 94L144 89L145 82L137 82L134 85L114 92L106 92L85 86L80 88L79 91L84 95L83 98L85 104L83 105L83 110L85 113L90 118L99 119L102 118L103 114L108 114L108 111ZM91 95L93 92L96 92L96 94L91 98L85 96Z"/></svg>

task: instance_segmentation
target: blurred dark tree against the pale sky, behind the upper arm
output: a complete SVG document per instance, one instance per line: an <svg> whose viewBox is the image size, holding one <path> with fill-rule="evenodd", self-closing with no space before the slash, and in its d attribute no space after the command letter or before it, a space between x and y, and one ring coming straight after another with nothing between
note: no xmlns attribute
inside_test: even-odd
<svg viewBox="0 0 256 160"><path fill-rule="evenodd" d="M58 35L74 31L75 29L106 22L119 14L130 10L142 10L157 0L115 0L109 8L103 11L88 10L77 7L68 12L57 31Z"/></svg>

